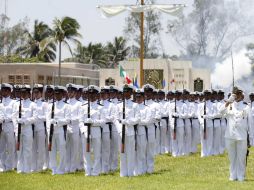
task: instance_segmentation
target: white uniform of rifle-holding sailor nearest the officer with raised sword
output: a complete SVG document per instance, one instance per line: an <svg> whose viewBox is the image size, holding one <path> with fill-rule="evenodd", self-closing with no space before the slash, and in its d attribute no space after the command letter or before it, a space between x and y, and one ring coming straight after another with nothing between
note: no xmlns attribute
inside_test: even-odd
<svg viewBox="0 0 254 190"><path fill-rule="evenodd" d="M213 150L213 121L212 102L206 101L206 139L204 139L204 102L198 106L198 120L200 123L201 157L212 155Z"/></svg>

